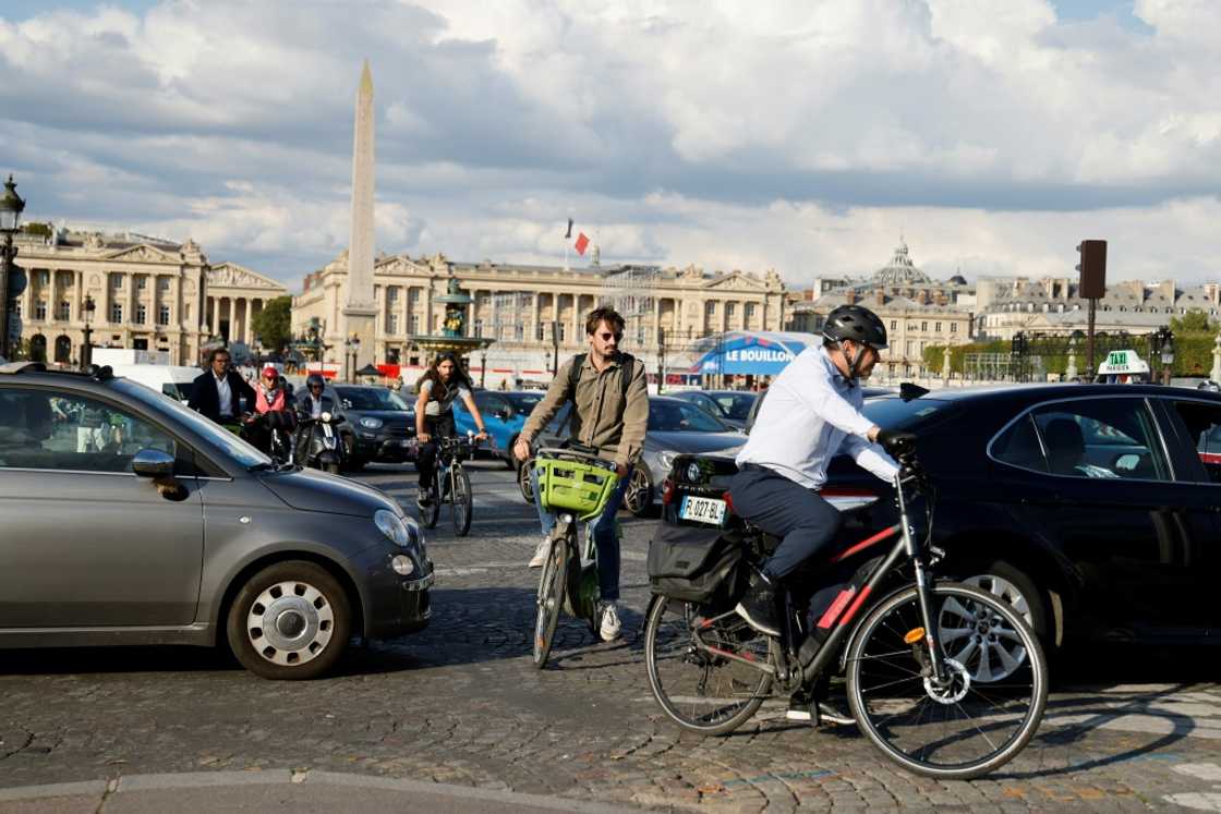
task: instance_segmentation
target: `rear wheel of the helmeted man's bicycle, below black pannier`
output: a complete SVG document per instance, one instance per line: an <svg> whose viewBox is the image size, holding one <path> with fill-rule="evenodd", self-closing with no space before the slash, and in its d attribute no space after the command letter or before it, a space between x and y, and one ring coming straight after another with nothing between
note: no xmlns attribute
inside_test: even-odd
<svg viewBox="0 0 1221 814"><path fill-rule="evenodd" d="M665 597L653 600L645 620L645 666L653 697L679 726L725 735L758 710L772 688L772 676L697 647L697 625L711 648L758 664L775 663L775 642L736 614L713 621L691 603Z"/></svg>

